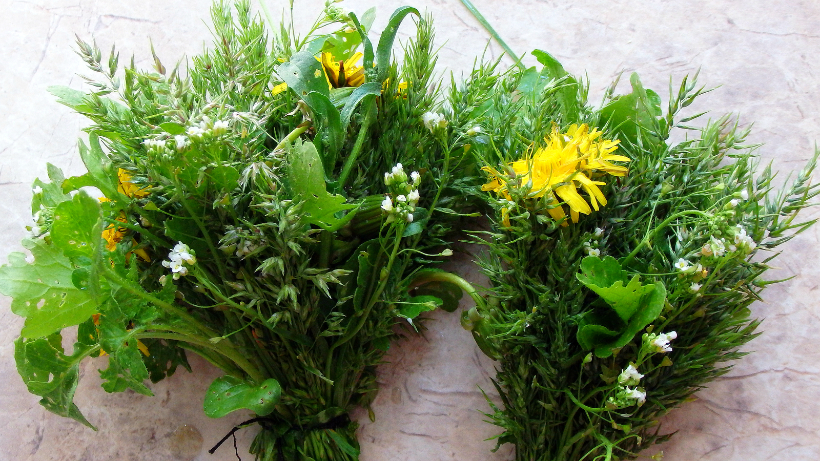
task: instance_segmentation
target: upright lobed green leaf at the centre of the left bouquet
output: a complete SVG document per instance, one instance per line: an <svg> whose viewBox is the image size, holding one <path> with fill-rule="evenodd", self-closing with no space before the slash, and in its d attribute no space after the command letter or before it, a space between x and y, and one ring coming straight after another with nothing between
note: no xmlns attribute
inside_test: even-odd
<svg viewBox="0 0 820 461"><path fill-rule="evenodd" d="M316 147L296 139L288 153L288 178L295 199L300 200L303 221L315 224L325 230L338 230L353 217L348 212L344 217L335 217L337 212L357 208L353 203L346 203L341 195L327 192L325 173Z"/></svg>

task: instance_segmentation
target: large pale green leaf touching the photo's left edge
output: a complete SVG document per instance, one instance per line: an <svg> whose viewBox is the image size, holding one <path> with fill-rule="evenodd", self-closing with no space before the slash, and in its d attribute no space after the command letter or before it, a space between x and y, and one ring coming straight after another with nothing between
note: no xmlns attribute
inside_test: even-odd
<svg viewBox="0 0 820 461"><path fill-rule="evenodd" d="M24 253L11 253L0 267L0 293L11 296L11 312L25 317L21 335L48 336L67 326L79 325L97 313L98 304L89 290L72 282L75 267L56 247L43 240L23 240L34 262Z"/></svg>

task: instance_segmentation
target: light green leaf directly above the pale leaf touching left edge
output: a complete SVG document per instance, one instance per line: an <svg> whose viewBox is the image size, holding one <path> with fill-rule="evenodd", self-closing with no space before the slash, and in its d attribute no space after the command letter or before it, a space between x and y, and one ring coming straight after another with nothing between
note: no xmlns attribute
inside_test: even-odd
<svg viewBox="0 0 820 461"><path fill-rule="evenodd" d="M102 237L102 208L83 190L54 209L52 241L68 256L93 258Z"/></svg>

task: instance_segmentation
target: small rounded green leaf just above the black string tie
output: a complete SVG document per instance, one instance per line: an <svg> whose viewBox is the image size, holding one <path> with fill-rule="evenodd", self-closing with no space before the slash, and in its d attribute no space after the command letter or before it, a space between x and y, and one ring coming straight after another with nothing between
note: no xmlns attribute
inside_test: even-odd
<svg viewBox="0 0 820 461"><path fill-rule="evenodd" d="M225 375L208 386L203 409L210 418L222 418L239 409L248 409L259 416L270 414L279 402L280 386L275 379L253 386L237 377Z"/></svg>

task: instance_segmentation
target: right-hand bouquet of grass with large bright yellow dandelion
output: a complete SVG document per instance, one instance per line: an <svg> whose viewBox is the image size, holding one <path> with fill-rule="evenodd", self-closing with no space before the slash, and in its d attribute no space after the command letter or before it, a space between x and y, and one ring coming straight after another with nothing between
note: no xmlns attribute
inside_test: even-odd
<svg viewBox="0 0 820 461"><path fill-rule="evenodd" d="M490 230L486 299L462 325L498 360L499 445L519 460L632 459L667 440L658 418L740 358L775 249L813 221L817 155L778 189L730 117L686 126L704 89L632 92L599 108L546 52L482 107L471 153ZM617 82L616 82L617 84ZM670 144L673 130L688 139Z"/></svg>

